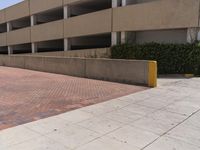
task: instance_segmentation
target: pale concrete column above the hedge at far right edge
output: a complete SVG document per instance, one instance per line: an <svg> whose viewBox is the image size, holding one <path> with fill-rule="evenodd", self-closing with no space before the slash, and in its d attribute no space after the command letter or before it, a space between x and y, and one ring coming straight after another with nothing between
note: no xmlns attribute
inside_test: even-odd
<svg viewBox="0 0 200 150"><path fill-rule="evenodd" d="M194 43L196 41L200 41L200 28L188 28L187 42Z"/></svg>

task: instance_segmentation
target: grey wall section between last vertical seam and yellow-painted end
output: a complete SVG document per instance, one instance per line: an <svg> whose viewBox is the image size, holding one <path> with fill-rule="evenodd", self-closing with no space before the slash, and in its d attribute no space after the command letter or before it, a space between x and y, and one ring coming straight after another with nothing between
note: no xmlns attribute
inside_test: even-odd
<svg viewBox="0 0 200 150"><path fill-rule="evenodd" d="M131 84L148 83L148 62L134 60L86 59L86 76Z"/></svg>

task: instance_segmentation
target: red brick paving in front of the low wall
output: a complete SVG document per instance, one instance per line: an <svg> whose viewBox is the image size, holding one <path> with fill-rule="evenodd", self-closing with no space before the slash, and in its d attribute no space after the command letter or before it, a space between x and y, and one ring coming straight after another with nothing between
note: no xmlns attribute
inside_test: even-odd
<svg viewBox="0 0 200 150"><path fill-rule="evenodd" d="M0 67L0 130L146 89Z"/></svg>

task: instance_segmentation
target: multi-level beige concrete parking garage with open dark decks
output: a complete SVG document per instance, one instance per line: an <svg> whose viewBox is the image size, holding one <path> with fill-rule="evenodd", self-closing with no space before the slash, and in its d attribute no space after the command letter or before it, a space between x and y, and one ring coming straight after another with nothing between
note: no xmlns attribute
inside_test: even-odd
<svg viewBox="0 0 200 150"><path fill-rule="evenodd" d="M125 42L191 43L199 38L199 3L25 0L0 10L0 53L104 48Z"/></svg>

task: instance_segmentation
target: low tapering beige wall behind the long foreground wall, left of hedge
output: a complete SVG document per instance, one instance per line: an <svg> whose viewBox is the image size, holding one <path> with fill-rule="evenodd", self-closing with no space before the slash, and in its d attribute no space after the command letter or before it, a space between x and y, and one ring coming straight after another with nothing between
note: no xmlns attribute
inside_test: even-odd
<svg viewBox="0 0 200 150"><path fill-rule="evenodd" d="M110 58L110 48L84 49L59 52L42 52L35 54L24 54L34 56L59 56L59 57L79 57L79 58Z"/></svg>

